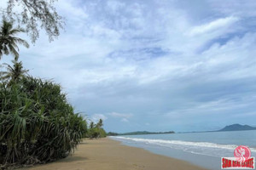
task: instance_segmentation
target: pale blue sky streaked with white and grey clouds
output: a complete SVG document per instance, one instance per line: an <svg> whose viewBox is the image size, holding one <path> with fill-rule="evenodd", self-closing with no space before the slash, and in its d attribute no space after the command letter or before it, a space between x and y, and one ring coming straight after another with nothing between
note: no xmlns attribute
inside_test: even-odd
<svg viewBox="0 0 256 170"><path fill-rule="evenodd" d="M3 5L3 1L1 0ZM65 31L20 60L111 132L256 126L254 0L59 0ZM4 56L1 62L9 62Z"/></svg>

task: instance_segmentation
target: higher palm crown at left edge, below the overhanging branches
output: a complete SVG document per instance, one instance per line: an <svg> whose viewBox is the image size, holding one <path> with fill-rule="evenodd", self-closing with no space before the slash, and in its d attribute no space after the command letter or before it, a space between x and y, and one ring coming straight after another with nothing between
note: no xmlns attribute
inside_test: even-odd
<svg viewBox="0 0 256 170"><path fill-rule="evenodd" d="M3 24L0 28L0 59L3 54L13 54L15 55L15 60L17 60L19 58L18 44L29 48L29 44L25 40L19 37L15 37L16 34L25 32L25 30L20 27L13 27L14 26L12 22L3 20Z"/></svg>

